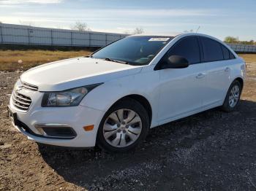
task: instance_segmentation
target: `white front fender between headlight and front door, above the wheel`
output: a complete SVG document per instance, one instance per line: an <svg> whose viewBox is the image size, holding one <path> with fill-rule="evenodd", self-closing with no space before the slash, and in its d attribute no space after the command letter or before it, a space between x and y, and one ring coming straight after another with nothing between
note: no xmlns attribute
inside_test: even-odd
<svg viewBox="0 0 256 191"><path fill-rule="evenodd" d="M158 125L159 73L154 66L145 66L139 74L110 80L92 90L81 106L107 112L110 107L127 95L141 95L148 100L152 110L151 127Z"/></svg>

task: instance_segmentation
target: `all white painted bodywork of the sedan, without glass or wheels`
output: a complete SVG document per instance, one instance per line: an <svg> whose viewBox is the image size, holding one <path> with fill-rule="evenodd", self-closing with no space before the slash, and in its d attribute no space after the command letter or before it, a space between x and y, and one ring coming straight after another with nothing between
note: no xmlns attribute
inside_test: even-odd
<svg viewBox="0 0 256 191"><path fill-rule="evenodd" d="M140 95L148 100L152 109L151 128L220 106L231 82L237 77L244 79L246 74L244 61L230 47L227 48L236 55L234 60L199 63L185 69L154 70L165 52L179 39L189 35L201 34L176 36L148 66L129 66L92 58L73 58L38 66L21 76L24 82L39 87L37 92L23 90L31 97L31 108L28 112L21 112L10 101L11 109L34 133L39 133L34 128L36 123L48 122L71 125L78 133L78 137L72 141L27 134L29 139L60 146L93 147L103 115L110 106L127 95ZM226 68L230 70L225 71ZM91 90L80 106L41 107L43 93L40 91L67 90L99 82L103 84ZM93 131L82 129L83 125L92 124Z"/></svg>

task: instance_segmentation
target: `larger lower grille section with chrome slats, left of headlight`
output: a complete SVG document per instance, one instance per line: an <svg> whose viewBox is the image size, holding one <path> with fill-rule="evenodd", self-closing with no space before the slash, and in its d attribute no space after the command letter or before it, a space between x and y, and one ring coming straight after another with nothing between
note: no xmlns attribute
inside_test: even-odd
<svg viewBox="0 0 256 191"><path fill-rule="evenodd" d="M31 98L17 91L13 90L12 92L12 103L20 110L28 111L29 106L31 105Z"/></svg>

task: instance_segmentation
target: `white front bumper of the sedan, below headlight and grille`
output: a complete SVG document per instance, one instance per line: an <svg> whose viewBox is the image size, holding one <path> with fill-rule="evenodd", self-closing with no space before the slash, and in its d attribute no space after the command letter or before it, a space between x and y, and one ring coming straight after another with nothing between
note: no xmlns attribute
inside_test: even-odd
<svg viewBox="0 0 256 191"><path fill-rule="evenodd" d="M34 103L38 103L38 101ZM12 103L12 98L9 109L16 117L16 120L12 120L12 125L28 139L62 147L94 147L99 123L105 114L103 111L86 106L50 108L41 107L40 104L32 104L29 111L21 112ZM37 128L40 124L65 124L75 131L75 137L73 139L54 139L42 136L42 132ZM94 129L86 131L83 129L86 125L94 125Z"/></svg>

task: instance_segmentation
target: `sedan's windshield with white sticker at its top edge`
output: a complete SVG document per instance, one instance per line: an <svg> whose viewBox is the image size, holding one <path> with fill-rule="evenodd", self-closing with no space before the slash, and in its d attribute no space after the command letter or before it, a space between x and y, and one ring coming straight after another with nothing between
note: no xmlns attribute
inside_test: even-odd
<svg viewBox="0 0 256 191"><path fill-rule="evenodd" d="M123 61L142 66L148 64L173 37L170 36L128 36L95 52L92 58Z"/></svg>

